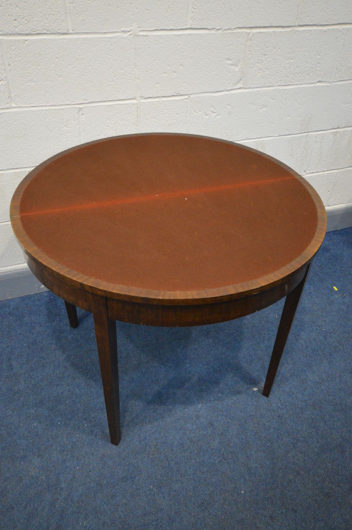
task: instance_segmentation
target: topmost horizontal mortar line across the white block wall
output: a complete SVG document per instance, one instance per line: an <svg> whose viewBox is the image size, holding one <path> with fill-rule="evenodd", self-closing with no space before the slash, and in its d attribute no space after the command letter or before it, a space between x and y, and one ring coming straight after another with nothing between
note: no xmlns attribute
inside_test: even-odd
<svg viewBox="0 0 352 530"><path fill-rule="evenodd" d="M352 22L340 22L337 24L301 24L290 26L247 26L240 28L163 28L163 29L140 29L139 36L148 34L187 34L187 33L236 33L236 32L268 32L268 31L302 31L302 30L324 30L351 28ZM57 38L84 38L84 37L114 37L131 36L133 28L119 31L90 31L90 32L57 32L57 33L0 33L0 39L57 39Z"/></svg>

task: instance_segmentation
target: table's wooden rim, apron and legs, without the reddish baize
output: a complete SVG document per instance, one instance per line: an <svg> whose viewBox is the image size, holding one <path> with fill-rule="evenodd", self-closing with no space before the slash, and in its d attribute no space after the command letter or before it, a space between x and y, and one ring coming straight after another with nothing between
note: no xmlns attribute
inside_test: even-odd
<svg viewBox="0 0 352 530"><path fill-rule="evenodd" d="M163 133L163 135L167 134ZM148 135L150 134L124 135L122 137ZM173 136L177 136L177 134L173 134ZM179 136L209 138L199 135ZM308 276L308 270L326 233L327 217L322 201L314 188L298 173L274 157L256 149L227 140L209 139L240 146L282 166L299 179L309 191L317 209L318 223L314 237L301 255L282 269L245 284L193 291L157 291L119 286L68 269L33 244L25 233L20 218L20 201L26 185L38 171L59 156L86 145L105 141L107 138L67 149L41 163L22 180L11 201L11 224L25 254L26 262L43 285L65 300L71 327L75 328L78 325L76 306L93 313L110 439L111 443L115 445L118 445L121 439L115 321L157 326L212 324L254 313L286 296L263 390L263 394L268 396Z"/></svg>

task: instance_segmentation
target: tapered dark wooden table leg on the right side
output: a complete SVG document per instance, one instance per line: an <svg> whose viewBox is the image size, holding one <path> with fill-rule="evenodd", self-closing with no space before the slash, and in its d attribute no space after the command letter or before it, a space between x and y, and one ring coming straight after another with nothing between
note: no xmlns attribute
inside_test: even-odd
<svg viewBox="0 0 352 530"><path fill-rule="evenodd" d="M291 293L288 293L288 295L286 296L280 323L278 325L273 353L270 359L268 373L266 374L265 384L263 388L263 395L266 396L266 398L269 397L270 390L272 390L277 368L285 348L288 334L291 330L291 325L301 298L305 281L308 277L310 266L311 263L309 263L308 267L306 268L304 277L302 278L300 283L291 291Z"/></svg>

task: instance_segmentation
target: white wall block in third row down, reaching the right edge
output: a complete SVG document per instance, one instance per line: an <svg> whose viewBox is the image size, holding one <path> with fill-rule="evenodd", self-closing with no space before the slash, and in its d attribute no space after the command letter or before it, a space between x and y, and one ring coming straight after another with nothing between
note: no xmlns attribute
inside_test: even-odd
<svg viewBox="0 0 352 530"><path fill-rule="evenodd" d="M352 83L194 96L190 112L191 133L228 140L348 127Z"/></svg>

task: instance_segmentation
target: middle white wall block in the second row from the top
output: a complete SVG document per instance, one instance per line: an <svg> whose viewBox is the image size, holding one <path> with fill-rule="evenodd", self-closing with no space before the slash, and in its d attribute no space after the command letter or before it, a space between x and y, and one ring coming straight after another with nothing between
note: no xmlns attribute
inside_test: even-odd
<svg viewBox="0 0 352 530"><path fill-rule="evenodd" d="M148 35L138 39L143 97L233 89L241 79L247 33Z"/></svg>

